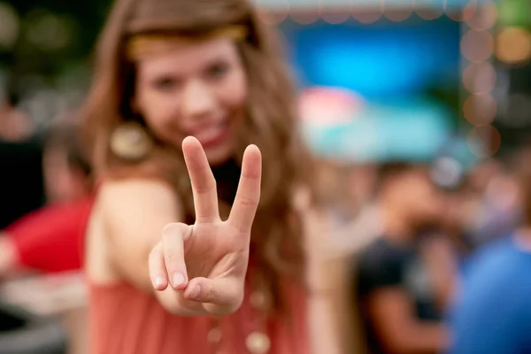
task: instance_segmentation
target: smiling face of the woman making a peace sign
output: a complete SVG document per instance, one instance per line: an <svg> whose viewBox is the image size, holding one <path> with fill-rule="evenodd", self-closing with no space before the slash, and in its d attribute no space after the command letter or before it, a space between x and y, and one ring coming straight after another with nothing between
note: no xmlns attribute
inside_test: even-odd
<svg viewBox="0 0 531 354"><path fill-rule="evenodd" d="M247 98L233 41L182 43L142 58L135 89L134 108L159 139L181 146L193 135L212 165L231 157Z"/></svg>

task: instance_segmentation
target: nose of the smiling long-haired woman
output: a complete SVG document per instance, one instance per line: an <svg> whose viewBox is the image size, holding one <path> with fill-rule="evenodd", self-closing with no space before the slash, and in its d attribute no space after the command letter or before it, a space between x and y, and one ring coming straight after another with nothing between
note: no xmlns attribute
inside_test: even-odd
<svg viewBox="0 0 531 354"><path fill-rule="evenodd" d="M186 119L205 119L216 108L212 89L201 81L190 81L182 93L181 113Z"/></svg>

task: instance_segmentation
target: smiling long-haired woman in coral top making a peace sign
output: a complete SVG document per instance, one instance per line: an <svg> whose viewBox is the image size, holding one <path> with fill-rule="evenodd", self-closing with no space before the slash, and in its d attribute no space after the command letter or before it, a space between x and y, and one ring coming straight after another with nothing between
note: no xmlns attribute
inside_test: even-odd
<svg viewBox="0 0 531 354"><path fill-rule="evenodd" d="M118 1L84 110L91 353L338 350L295 104L246 0Z"/></svg>

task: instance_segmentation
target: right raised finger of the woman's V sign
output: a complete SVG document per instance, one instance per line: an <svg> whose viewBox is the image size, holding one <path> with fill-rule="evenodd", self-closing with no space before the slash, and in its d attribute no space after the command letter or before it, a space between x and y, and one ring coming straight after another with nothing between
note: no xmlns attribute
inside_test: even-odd
<svg viewBox="0 0 531 354"><path fill-rule="evenodd" d="M256 145L250 145L243 153L242 174L235 196L235 203L228 222L238 230L249 233L260 201L262 155Z"/></svg>

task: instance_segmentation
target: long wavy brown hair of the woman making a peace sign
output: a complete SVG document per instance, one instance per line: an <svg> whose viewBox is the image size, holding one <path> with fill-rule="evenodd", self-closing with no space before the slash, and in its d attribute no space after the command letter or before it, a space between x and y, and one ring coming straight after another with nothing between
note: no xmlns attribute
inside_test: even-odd
<svg viewBox="0 0 531 354"><path fill-rule="evenodd" d="M82 110L84 132L98 176L162 178L173 186L187 220L193 220L191 187L180 149L157 142L149 158L131 165L113 155L109 142L116 127L138 119L130 105L135 63L127 59L126 50L131 36L208 35L227 26L247 29L247 37L237 45L250 92L234 158L239 163L250 143L258 145L263 155L262 194L252 231L251 258L278 289L274 284L278 285L281 274L302 279L304 272L302 222L293 196L299 187L312 190L312 163L298 134L296 94L280 40L258 19L247 0L119 0L97 48L95 78ZM225 206L231 203L226 202Z"/></svg>

